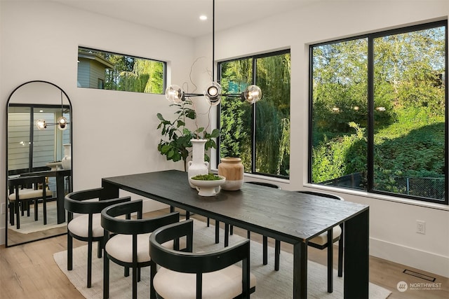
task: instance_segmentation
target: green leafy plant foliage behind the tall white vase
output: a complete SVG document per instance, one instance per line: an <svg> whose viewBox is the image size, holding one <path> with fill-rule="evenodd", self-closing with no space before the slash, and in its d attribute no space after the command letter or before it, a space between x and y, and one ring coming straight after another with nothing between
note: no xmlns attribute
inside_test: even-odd
<svg viewBox="0 0 449 299"><path fill-rule="evenodd" d="M158 130L161 129L161 141L158 144L158 151L161 155L166 155L167 160L177 162L182 160L184 162L184 169L187 170L187 158L192 151L192 139L205 139L204 150L209 148L217 148L217 144L213 138L220 136L220 131L217 129L212 132L207 132L204 127L199 127L196 119L196 111L190 99L185 99L180 104L170 104L178 109L175 111L175 120L170 121L163 118L161 113L157 113L157 118L161 120L158 125ZM190 130L187 125L187 119L194 120L195 129ZM204 153L204 160L210 161L207 153Z"/></svg>

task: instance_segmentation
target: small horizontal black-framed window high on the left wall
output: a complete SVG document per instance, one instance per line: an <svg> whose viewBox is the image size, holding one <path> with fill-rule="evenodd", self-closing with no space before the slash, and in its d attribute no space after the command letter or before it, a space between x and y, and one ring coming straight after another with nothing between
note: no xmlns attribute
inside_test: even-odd
<svg viewBox="0 0 449 299"><path fill-rule="evenodd" d="M79 88L162 94L165 74L165 62L78 48Z"/></svg>

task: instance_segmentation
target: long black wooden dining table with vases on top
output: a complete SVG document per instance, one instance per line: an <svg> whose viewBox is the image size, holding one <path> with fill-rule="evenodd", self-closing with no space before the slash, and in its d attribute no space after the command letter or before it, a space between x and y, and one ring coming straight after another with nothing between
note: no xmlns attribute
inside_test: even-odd
<svg viewBox="0 0 449 299"><path fill-rule="evenodd" d="M244 183L201 197L189 186L187 172L168 170L102 179L105 198L126 190L293 244L292 298L307 298L307 242L344 223L344 298L368 298L369 207L288 190Z"/></svg>

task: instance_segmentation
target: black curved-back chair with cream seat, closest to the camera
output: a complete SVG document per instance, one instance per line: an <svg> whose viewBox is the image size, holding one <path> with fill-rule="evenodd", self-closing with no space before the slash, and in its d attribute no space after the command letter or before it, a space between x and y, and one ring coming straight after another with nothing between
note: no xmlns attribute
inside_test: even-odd
<svg viewBox="0 0 449 299"><path fill-rule="evenodd" d="M250 240L194 253L193 237L192 220L166 225L149 237L149 255L159 265L152 277L152 298L249 298L256 284L250 273ZM163 246L176 239L185 240L185 248Z"/></svg>

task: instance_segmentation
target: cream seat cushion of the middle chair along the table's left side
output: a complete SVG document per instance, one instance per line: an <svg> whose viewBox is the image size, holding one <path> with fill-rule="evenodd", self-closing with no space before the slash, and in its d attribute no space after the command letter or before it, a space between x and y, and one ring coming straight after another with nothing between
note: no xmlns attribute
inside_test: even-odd
<svg viewBox="0 0 449 299"><path fill-rule="evenodd" d="M149 236L151 232L147 234L138 235L138 263L147 262L149 257ZM173 241L169 241L163 244L167 248L173 249ZM114 235L111 239L107 240L106 247L107 253L110 256L121 260L125 263L133 262L133 235Z"/></svg>

